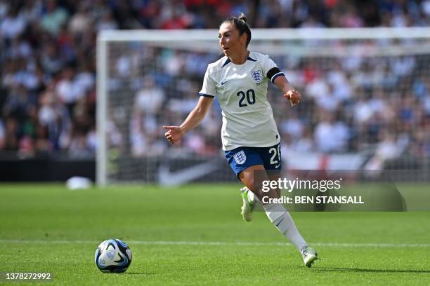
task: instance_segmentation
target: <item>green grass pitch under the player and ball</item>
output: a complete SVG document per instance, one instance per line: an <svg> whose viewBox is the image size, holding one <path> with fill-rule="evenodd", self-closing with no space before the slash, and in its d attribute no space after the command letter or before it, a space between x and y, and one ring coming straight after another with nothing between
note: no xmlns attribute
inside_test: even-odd
<svg viewBox="0 0 430 286"><path fill-rule="evenodd" d="M265 214L242 221L239 187L0 184L0 272L50 272L49 285L430 285L430 212L292 212L320 256L305 268ZM96 268L107 238L129 244L126 273Z"/></svg>

